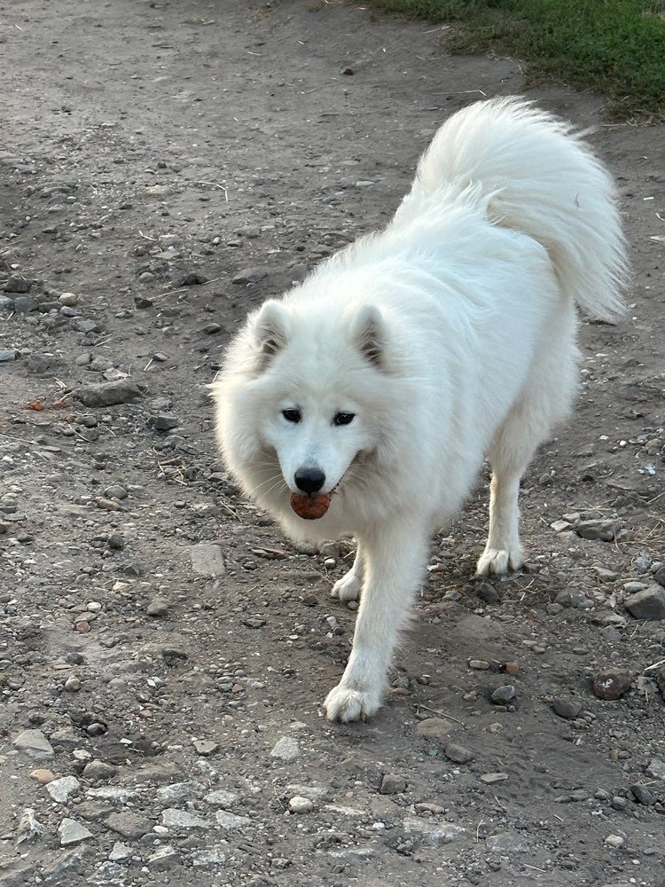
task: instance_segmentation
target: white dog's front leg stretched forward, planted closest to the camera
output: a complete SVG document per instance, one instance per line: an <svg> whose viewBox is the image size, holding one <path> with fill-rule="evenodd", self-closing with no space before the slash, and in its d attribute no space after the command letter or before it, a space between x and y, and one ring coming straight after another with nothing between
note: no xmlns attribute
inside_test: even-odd
<svg viewBox="0 0 665 887"><path fill-rule="evenodd" d="M348 665L325 699L330 720L364 720L379 709L398 632L426 567L428 534L415 521L383 526L359 543L363 590Z"/></svg>

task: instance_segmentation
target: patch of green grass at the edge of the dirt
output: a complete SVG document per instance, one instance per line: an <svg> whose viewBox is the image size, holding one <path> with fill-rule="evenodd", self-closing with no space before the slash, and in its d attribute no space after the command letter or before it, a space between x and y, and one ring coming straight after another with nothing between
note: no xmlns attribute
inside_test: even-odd
<svg viewBox="0 0 665 887"><path fill-rule="evenodd" d="M511 55L529 82L600 90L614 119L665 120L665 0L370 0L449 22L450 51Z"/></svg>

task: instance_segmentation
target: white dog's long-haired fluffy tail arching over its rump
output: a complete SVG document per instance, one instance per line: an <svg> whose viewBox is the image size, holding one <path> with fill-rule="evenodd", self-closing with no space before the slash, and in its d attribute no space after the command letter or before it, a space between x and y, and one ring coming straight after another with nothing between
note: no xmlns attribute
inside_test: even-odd
<svg viewBox="0 0 665 887"><path fill-rule="evenodd" d="M423 155L405 203L415 209L441 188L469 186L494 224L547 249L561 287L583 309L608 320L621 312L628 263L614 184L567 123L520 98L454 114Z"/></svg>

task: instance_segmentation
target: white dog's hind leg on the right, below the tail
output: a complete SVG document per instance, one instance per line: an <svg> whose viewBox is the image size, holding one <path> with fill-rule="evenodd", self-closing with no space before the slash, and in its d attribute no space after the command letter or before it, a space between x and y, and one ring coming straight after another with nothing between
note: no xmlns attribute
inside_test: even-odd
<svg viewBox="0 0 665 887"><path fill-rule="evenodd" d="M572 306L549 318L528 382L489 447L489 537L477 576L503 576L522 565L520 479L539 443L566 416L575 394L577 349Z"/></svg>

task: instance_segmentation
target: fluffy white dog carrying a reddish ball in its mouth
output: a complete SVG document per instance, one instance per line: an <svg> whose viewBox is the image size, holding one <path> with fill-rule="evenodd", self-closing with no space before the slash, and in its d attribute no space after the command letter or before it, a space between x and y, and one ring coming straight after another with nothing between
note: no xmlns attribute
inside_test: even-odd
<svg viewBox="0 0 665 887"><path fill-rule="evenodd" d="M566 124L515 98L442 126L383 232L265 302L214 384L223 455L294 538L354 536L360 596L325 700L372 716L431 535L492 467L481 576L520 568L520 477L575 394L575 304L622 309L614 188Z"/></svg>

